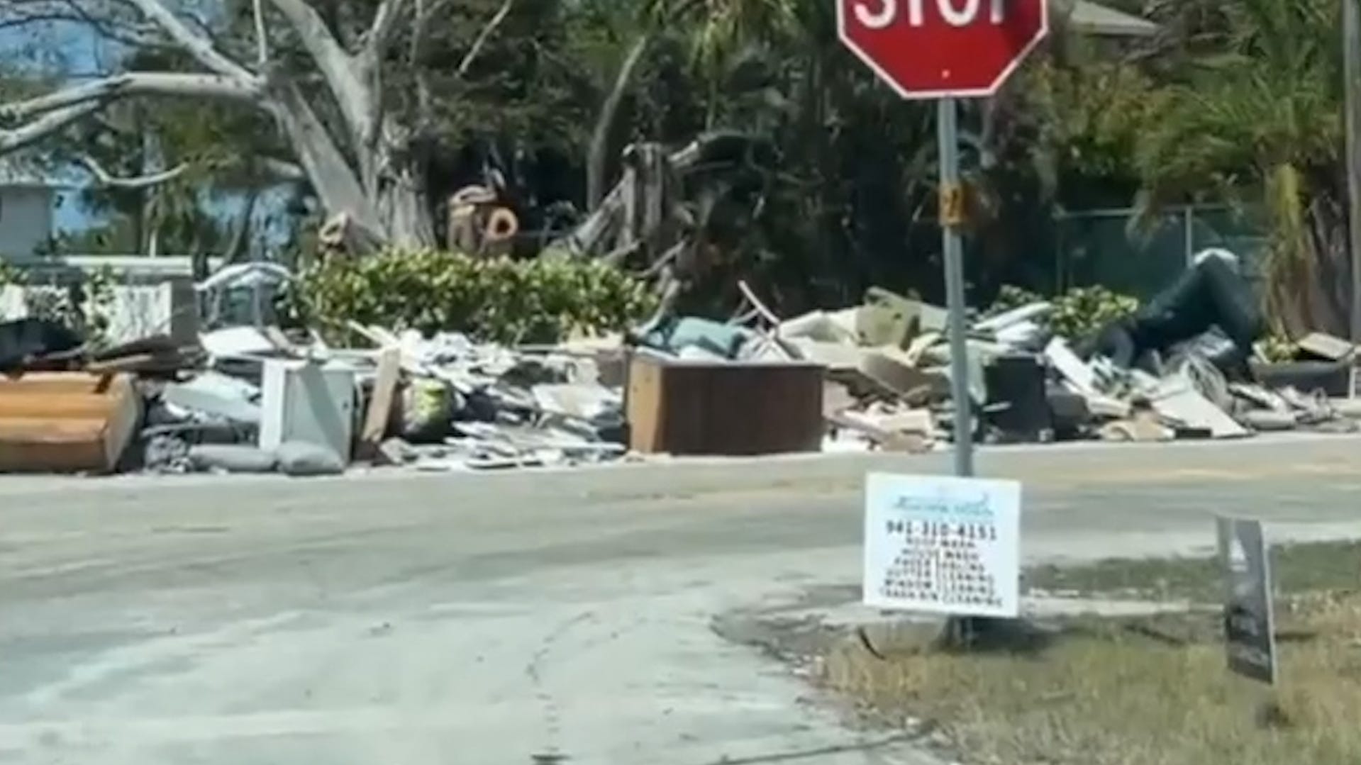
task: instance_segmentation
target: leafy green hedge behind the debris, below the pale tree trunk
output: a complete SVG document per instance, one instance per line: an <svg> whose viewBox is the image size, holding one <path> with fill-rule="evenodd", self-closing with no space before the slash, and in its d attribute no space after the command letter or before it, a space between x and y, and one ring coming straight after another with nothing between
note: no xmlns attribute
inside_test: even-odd
<svg viewBox="0 0 1361 765"><path fill-rule="evenodd" d="M623 329L655 309L645 286L595 261L479 259L434 249L332 259L298 279L301 310L346 321L480 340L547 343L572 329Z"/></svg>

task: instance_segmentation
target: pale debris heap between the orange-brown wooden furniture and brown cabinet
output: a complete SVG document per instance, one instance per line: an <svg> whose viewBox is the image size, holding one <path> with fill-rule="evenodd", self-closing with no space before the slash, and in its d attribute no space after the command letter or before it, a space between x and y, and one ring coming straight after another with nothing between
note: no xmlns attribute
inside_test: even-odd
<svg viewBox="0 0 1361 765"><path fill-rule="evenodd" d="M352 329L372 347L295 344L250 327L204 335L207 369L148 395L155 425L143 430L143 467L316 475L362 460L486 470L627 451L619 391L570 347L513 353L459 333Z"/></svg>

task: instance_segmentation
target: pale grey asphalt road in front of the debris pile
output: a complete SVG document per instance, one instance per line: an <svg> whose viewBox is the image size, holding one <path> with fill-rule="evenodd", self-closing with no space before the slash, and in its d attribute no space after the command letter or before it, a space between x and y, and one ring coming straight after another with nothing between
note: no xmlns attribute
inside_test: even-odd
<svg viewBox="0 0 1361 765"><path fill-rule="evenodd" d="M1028 559L1361 536L1361 440L987 452ZM0 479L0 762L930 762L716 615L856 583L866 470Z"/></svg>

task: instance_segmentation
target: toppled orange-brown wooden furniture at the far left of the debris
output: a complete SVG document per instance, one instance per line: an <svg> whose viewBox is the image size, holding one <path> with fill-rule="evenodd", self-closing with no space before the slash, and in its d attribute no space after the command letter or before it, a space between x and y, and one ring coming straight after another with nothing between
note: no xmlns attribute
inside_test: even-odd
<svg viewBox="0 0 1361 765"><path fill-rule="evenodd" d="M0 472L113 472L140 411L125 374L0 377Z"/></svg>

